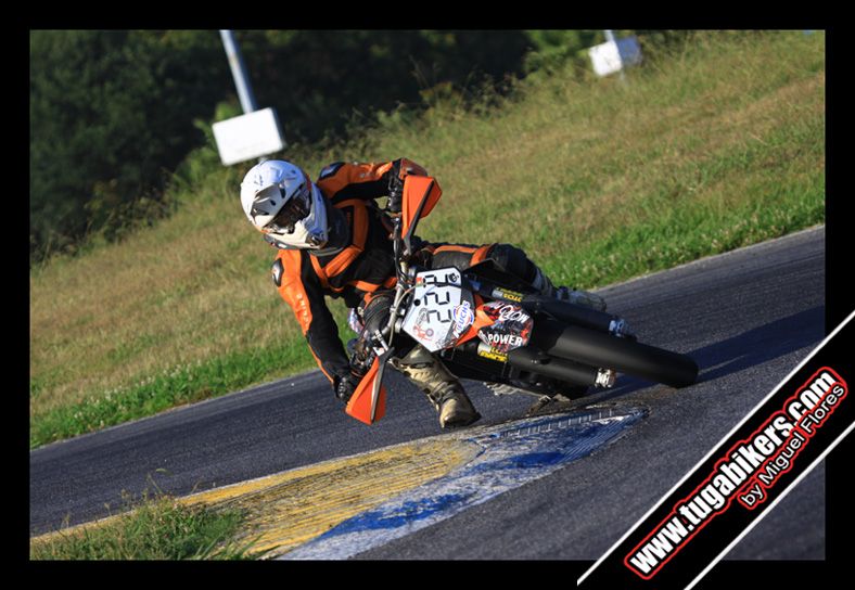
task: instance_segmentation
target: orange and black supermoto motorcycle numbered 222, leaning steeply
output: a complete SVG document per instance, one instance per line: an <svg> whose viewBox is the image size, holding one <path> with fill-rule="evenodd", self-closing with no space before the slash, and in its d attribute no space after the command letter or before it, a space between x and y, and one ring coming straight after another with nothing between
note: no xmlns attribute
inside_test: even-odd
<svg viewBox="0 0 855 590"><path fill-rule="evenodd" d="M416 227L441 195L432 177L405 180L401 215L394 219L395 297L387 324L363 335L373 354L347 414L367 424L384 415L383 374L403 334L458 379L482 381L497 394L578 397L612 387L617 373L673 387L694 383L698 365L690 357L638 342L617 316L533 293L489 260L462 271L419 266Z"/></svg>

